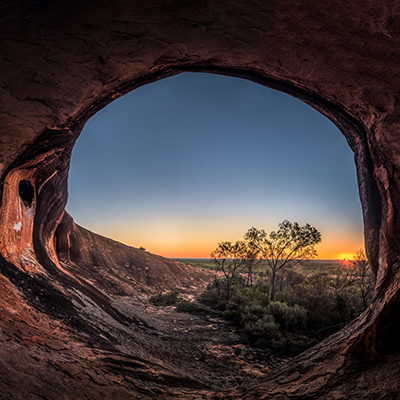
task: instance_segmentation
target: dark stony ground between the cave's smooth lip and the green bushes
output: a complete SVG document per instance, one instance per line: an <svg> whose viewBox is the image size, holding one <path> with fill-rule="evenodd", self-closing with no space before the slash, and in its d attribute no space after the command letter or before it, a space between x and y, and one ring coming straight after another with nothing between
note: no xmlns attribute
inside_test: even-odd
<svg viewBox="0 0 400 400"><path fill-rule="evenodd" d="M149 353L162 355L171 363L179 360L207 387L232 387L286 361L269 351L240 344L235 327L198 301L192 301L186 312L174 306L154 306L147 299L125 299L123 304L156 332L146 340Z"/></svg>

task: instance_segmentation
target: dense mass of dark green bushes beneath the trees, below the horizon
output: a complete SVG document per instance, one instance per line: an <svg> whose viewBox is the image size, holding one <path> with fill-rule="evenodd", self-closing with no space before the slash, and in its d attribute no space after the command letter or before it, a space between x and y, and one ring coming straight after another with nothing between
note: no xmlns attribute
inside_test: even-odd
<svg viewBox="0 0 400 400"><path fill-rule="evenodd" d="M218 279L208 286L202 300L238 326L244 343L296 355L338 331L365 307L361 289L340 275L337 266L314 269L308 265L282 271L273 302L267 268L258 272L254 284L246 285L238 278L230 287L229 299L226 280Z"/></svg>

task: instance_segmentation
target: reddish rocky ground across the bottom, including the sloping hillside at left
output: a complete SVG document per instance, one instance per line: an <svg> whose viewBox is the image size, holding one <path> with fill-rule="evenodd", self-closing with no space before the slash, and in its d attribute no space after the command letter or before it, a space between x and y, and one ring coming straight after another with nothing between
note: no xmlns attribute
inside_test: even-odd
<svg viewBox="0 0 400 400"><path fill-rule="evenodd" d="M63 228L58 265L0 258L1 400L399 398L400 353L348 357L352 324L280 359L198 302L209 271ZM184 312L150 301L171 290Z"/></svg>

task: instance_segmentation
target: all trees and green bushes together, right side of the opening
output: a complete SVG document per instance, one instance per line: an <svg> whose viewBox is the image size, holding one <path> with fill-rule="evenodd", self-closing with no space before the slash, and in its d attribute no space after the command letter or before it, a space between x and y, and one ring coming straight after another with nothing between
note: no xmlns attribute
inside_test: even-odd
<svg viewBox="0 0 400 400"><path fill-rule="evenodd" d="M374 287L361 250L353 261L304 261L320 241L310 225L284 221L269 235L251 228L243 241L220 243L202 301L235 323L245 344L299 354L360 315Z"/></svg>

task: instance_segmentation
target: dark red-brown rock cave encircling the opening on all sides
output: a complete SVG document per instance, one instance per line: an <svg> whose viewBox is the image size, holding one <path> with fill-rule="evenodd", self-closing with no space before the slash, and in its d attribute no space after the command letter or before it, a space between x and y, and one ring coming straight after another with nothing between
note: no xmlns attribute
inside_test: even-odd
<svg viewBox="0 0 400 400"><path fill-rule="evenodd" d="M21 1L0 9L4 398L400 395L397 1ZM70 155L85 122L125 93L183 71L249 79L336 124L354 152L376 275L370 307L350 325L225 390L201 384L177 366L182 360L157 359L148 322L118 300L205 277L91 233L65 212Z"/></svg>

